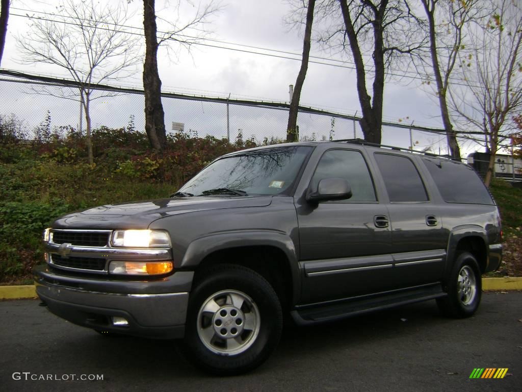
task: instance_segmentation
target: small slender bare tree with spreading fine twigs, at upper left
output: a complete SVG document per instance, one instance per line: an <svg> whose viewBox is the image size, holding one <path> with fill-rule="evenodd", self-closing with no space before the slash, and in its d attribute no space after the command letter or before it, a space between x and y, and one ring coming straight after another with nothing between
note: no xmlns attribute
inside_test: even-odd
<svg viewBox="0 0 522 392"><path fill-rule="evenodd" d="M94 0L64 0L53 21L34 18L28 34L17 38L24 54L22 63L54 64L66 70L78 83L79 99L64 91L56 94L43 89L37 93L81 102L87 124L90 164L93 163L90 103L107 96L95 96L93 85L129 77L141 62L136 37L121 31L121 25L128 17L124 3L111 7Z"/></svg>

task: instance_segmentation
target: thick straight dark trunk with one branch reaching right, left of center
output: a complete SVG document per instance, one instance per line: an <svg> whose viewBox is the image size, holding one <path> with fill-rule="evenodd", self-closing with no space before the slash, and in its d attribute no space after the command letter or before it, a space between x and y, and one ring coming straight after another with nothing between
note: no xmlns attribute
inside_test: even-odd
<svg viewBox="0 0 522 392"><path fill-rule="evenodd" d="M145 131L152 148L162 151L167 145L163 105L161 103L161 79L158 72L158 48L163 43L176 42L186 49L204 37L204 26L210 17L221 9L219 4L212 1L204 7L198 7L194 16L188 22L180 22L179 0L175 6L177 16L174 21L158 18L156 15L155 0L144 0L145 29L145 64L143 68L143 87L145 90ZM165 24L165 31L160 33L156 19ZM167 45L169 48L169 45Z"/></svg>

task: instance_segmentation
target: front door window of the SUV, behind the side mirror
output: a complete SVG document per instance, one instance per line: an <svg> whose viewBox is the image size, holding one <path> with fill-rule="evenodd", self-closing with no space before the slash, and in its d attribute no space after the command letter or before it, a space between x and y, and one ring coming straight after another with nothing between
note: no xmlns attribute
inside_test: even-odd
<svg viewBox="0 0 522 392"><path fill-rule="evenodd" d="M352 188L348 201L375 201L372 177L363 156L358 151L333 149L327 151L319 160L312 178L313 189L323 178L345 178Z"/></svg>

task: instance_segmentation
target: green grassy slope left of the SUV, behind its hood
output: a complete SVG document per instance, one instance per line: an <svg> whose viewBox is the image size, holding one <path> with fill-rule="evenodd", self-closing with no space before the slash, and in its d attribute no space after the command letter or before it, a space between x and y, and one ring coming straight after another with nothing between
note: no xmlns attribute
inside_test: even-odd
<svg viewBox="0 0 522 392"><path fill-rule="evenodd" d="M127 178L85 164L0 165L0 284L26 284L43 261L41 233L56 217L103 204L169 197L177 183Z"/></svg>

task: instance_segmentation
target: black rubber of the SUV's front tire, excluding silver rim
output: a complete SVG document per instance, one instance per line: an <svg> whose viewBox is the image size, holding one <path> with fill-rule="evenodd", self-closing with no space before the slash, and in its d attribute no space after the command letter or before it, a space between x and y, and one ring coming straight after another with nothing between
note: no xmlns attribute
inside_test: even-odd
<svg viewBox="0 0 522 392"><path fill-rule="evenodd" d="M213 294L236 290L252 298L260 315L260 330L255 342L236 355L211 352L197 333L201 305ZM262 363L275 349L281 335L282 313L278 297L270 284L252 270L222 266L208 271L198 279L191 293L187 312L185 352L198 366L219 375L244 373Z"/></svg>

